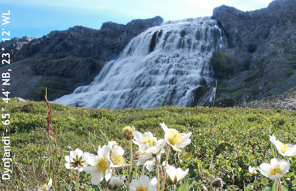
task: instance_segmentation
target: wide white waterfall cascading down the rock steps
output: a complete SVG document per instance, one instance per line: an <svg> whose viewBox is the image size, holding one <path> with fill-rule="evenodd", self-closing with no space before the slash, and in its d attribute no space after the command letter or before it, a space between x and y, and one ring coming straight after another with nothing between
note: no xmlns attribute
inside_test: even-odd
<svg viewBox="0 0 296 191"><path fill-rule="evenodd" d="M90 85L54 102L108 109L186 107L196 88L212 87L209 61L225 46L211 17L163 22L132 39L120 60L107 63Z"/></svg>

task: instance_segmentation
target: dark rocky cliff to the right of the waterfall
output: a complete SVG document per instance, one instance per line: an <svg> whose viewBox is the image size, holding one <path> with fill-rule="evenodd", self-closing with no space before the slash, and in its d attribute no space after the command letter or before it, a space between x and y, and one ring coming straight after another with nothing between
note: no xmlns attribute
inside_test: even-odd
<svg viewBox="0 0 296 191"><path fill-rule="evenodd" d="M214 52L217 103L234 105L278 95L296 86L295 0L274 0L243 12L222 5L212 18L223 29L228 50Z"/></svg>

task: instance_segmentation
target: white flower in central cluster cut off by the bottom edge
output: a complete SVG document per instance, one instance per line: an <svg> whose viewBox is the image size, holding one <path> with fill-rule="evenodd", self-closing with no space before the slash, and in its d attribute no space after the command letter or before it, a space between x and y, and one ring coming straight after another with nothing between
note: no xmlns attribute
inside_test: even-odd
<svg viewBox="0 0 296 191"><path fill-rule="evenodd" d="M149 181L148 176L142 175L140 180L133 179L129 190L130 191L156 191L157 189L157 179L156 177L152 178Z"/></svg>

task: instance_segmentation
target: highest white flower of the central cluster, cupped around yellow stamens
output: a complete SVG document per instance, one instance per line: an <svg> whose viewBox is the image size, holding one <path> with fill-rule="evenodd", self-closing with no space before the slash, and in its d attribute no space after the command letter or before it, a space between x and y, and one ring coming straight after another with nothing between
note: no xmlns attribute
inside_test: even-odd
<svg viewBox="0 0 296 191"><path fill-rule="evenodd" d="M179 133L176 129L169 129L164 123L160 123L162 129L164 130L164 138L166 142L175 150L181 152L186 145L190 144L191 139L189 139L191 132Z"/></svg>

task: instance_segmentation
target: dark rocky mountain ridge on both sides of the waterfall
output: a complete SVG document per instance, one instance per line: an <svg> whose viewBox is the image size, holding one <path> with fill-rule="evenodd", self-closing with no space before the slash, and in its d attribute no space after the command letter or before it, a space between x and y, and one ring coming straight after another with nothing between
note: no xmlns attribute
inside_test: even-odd
<svg viewBox="0 0 296 191"><path fill-rule="evenodd" d="M296 86L295 5L294 0L273 0L268 7L254 11L226 5L214 8L212 19L217 20L228 44L227 50L213 52L210 63L213 80L217 80L215 106L250 103ZM50 100L72 93L75 87L89 84L107 61L118 59L131 38L162 21L157 16L126 25L106 22L100 30L75 26L42 38L0 42L16 61L9 67L17 76L11 81L19 84L10 85L10 95L43 100L45 87ZM0 68L1 73L5 71L7 66ZM19 87L28 88L21 91ZM202 97L201 92L206 90L196 92L194 100Z"/></svg>

